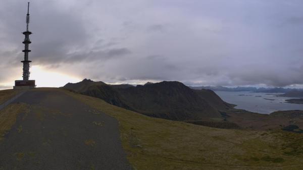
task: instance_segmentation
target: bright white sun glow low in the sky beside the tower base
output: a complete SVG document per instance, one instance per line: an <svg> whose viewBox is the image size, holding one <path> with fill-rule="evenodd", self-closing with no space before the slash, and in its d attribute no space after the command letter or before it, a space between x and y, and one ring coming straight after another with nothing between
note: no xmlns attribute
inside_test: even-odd
<svg viewBox="0 0 303 170"><path fill-rule="evenodd" d="M80 78L67 74L47 71L41 66L32 66L30 72L30 80L35 80L37 87L62 87L66 83L81 81Z"/></svg>

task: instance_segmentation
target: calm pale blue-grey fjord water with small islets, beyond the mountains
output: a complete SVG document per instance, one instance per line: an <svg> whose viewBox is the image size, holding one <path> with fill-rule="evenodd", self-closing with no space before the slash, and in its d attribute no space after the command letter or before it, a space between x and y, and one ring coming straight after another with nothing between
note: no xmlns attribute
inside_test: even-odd
<svg viewBox="0 0 303 170"><path fill-rule="evenodd" d="M276 97L282 93L253 93L253 92L229 92L215 91L224 101L236 104L235 108L241 108L260 114L270 114L277 110L303 110L303 104L285 103L286 99L296 97ZM265 99L266 98L266 99ZM271 100L268 100L271 99Z"/></svg>

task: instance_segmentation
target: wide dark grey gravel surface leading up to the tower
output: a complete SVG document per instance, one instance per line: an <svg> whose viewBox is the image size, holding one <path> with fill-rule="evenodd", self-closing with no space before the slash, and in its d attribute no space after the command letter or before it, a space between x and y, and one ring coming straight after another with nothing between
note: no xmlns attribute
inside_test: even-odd
<svg viewBox="0 0 303 170"><path fill-rule="evenodd" d="M56 90L29 90L14 102L28 114L0 143L0 169L131 169L118 122Z"/></svg>

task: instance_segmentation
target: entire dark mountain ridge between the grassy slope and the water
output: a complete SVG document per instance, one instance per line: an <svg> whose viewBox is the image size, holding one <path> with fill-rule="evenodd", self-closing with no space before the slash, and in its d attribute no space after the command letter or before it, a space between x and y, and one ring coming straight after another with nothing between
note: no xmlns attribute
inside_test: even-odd
<svg viewBox="0 0 303 170"><path fill-rule="evenodd" d="M145 85L109 85L84 79L63 88L101 98L141 114L176 121L221 118L221 111L235 105L224 102L212 90L194 90L176 81Z"/></svg>

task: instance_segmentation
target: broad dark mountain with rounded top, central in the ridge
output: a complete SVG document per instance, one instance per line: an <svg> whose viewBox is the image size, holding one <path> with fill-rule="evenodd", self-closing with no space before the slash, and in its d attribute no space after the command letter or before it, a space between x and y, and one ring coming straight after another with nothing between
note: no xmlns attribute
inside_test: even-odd
<svg viewBox="0 0 303 170"><path fill-rule="evenodd" d="M180 82L160 82L117 89L123 101L142 114L171 120L221 117L219 111Z"/></svg>

